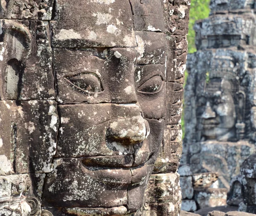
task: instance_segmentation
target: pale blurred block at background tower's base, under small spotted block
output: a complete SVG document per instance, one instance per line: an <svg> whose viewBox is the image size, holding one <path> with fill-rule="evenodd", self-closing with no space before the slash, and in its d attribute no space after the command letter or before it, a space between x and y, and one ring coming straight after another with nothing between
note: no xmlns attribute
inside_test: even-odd
<svg viewBox="0 0 256 216"><path fill-rule="evenodd" d="M194 190L194 198L200 209L227 204L226 188L208 188Z"/></svg>

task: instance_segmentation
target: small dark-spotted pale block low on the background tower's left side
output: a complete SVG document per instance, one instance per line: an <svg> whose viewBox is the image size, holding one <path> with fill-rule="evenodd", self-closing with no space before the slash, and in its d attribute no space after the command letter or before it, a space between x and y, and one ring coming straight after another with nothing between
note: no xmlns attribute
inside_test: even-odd
<svg viewBox="0 0 256 216"><path fill-rule="evenodd" d="M198 173L193 174L192 178L194 188L208 188L218 180L218 173Z"/></svg>

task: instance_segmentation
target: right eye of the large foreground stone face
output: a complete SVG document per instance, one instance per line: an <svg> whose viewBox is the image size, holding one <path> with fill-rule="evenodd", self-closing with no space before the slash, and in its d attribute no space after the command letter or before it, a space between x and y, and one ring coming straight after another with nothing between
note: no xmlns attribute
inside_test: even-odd
<svg viewBox="0 0 256 216"><path fill-rule="evenodd" d="M163 80L159 75L157 75L145 81L144 84L138 87L138 90L140 92L156 93L160 91L160 89L162 88L162 85L163 85Z"/></svg>

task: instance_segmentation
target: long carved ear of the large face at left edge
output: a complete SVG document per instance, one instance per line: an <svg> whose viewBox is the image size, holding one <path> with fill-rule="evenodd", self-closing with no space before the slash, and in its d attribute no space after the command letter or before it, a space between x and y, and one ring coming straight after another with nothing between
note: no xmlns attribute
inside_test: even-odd
<svg viewBox="0 0 256 216"><path fill-rule="evenodd" d="M2 100L17 100L22 89L25 62L31 52L32 36L17 22L3 24L3 46L0 50Z"/></svg>

